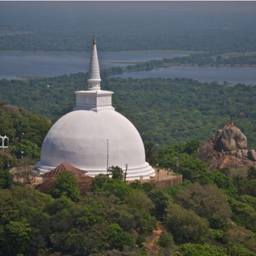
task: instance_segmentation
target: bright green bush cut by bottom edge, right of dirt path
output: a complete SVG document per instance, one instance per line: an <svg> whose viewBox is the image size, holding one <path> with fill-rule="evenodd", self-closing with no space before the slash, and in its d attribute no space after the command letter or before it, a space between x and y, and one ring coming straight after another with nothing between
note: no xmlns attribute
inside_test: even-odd
<svg viewBox="0 0 256 256"><path fill-rule="evenodd" d="M227 251L226 248L220 246L212 246L212 245L202 245L202 244L183 244L178 247L175 247L174 255L182 255L182 256L226 256ZM176 253L178 251L178 253ZM232 255L232 254L231 254Z"/></svg>

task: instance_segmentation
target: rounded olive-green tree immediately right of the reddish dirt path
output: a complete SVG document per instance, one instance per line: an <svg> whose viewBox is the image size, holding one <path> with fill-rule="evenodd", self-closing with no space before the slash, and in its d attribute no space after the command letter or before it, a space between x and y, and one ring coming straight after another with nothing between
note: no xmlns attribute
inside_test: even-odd
<svg viewBox="0 0 256 256"><path fill-rule="evenodd" d="M193 210L172 204L166 210L166 228L177 243L204 243L209 236L208 222Z"/></svg>

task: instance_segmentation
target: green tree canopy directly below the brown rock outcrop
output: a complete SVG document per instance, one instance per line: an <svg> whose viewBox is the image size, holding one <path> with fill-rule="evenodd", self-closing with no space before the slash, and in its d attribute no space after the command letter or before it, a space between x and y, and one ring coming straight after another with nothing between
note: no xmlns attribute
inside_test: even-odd
<svg viewBox="0 0 256 256"><path fill-rule="evenodd" d="M205 173L200 177L199 182L202 185L216 184L219 188L225 189L228 196L237 196L237 188L234 186L232 179L221 173L220 170Z"/></svg>

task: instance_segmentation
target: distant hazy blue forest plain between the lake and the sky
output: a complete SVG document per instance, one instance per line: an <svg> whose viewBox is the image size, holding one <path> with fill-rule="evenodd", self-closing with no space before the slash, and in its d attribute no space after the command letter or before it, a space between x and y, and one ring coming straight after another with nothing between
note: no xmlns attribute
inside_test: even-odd
<svg viewBox="0 0 256 256"><path fill-rule="evenodd" d="M34 16L31 12L25 15L26 11L17 12L15 17L11 11L9 15L1 13L0 29L32 32L0 36L1 51L91 51L93 34L99 51L190 50L220 54L256 50L256 20L249 13L181 15L133 10L131 14L113 10L111 14L87 11L70 17L58 11ZM92 23L95 18L97 23Z"/></svg>

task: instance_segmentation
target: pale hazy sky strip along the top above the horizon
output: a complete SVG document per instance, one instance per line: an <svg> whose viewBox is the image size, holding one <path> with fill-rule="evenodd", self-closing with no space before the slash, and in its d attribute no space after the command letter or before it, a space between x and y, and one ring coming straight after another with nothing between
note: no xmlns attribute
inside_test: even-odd
<svg viewBox="0 0 256 256"><path fill-rule="evenodd" d="M256 1L1 1L0 9L5 12L14 10L252 12L256 11Z"/></svg>

